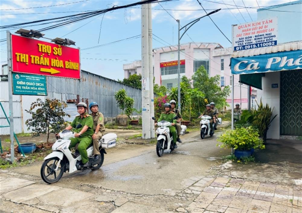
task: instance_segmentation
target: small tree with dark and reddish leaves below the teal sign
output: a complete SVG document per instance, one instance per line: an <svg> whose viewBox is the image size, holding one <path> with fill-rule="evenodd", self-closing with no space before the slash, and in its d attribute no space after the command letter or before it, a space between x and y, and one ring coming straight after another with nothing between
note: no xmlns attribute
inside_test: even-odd
<svg viewBox="0 0 302 213"><path fill-rule="evenodd" d="M36 111L33 111L34 108ZM30 110L25 110L31 114L31 118L25 121L27 129L33 128L33 136L39 136L40 134L47 134L47 142L49 140L50 133L56 133L60 129L57 125L64 124L64 116L70 117L63 109L67 107L66 102L58 99L46 99L43 102L40 98L36 102L31 103Z"/></svg>

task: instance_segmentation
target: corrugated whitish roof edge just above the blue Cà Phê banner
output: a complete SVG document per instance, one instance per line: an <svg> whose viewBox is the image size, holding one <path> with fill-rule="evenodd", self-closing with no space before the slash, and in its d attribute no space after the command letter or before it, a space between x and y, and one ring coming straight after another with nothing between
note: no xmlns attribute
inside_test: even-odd
<svg viewBox="0 0 302 213"><path fill-rule="evenodd" d="M302 50L302 41L294 41L284 44L278 44L276 46L237 51L234 52L231 57L238 58L238 57L247 57L247 56L257 56L257 55L263 55L268 53L278 53L278 52L291 51L291 50Z"/></svg>

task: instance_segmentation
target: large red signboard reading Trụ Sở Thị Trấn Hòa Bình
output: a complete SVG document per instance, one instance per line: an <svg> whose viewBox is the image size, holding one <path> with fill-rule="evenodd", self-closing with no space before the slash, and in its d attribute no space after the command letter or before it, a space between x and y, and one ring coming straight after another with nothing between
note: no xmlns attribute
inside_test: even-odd
<svg viewBox="0 0 302 213"><path fill-rule="evenodd" d="M13 72L80 78L79 49L12 35Z"/></svg>

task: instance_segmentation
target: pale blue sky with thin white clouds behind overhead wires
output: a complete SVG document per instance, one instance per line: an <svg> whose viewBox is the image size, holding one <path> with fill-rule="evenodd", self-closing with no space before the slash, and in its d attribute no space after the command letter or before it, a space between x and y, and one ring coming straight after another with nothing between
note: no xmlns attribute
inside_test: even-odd
<svg viewBox="0 0 302 213"><path fill-rule="evenodd" d="M98 10L122 6L138 2L133 0L73 0L73 1L5 1L0 2L0 25L17 24L28 21L36 21L46 18L56 18L65 15L78 14L87 10ZM257 8L263 6L278 5L293 0L199 0L207 10L221 10L211 18L231 40L232 24L242 24L257 20ZM259 4L259 5L258 5ZM237 6L246 6L240 8ZM39 7L39 8L37 8ZM25 9L24 9L25 8ZM178 25L175 19L185 25L196 18L205 15L205 12L197 0L173 0L152 4L152 27L154 37L153 49L177 44ZM167 11L165 11L167 10ZM25 25L26 26L26 25ZM27 30L37 30L42 26L22 27ZM46 25L49 26L49 25ZM82 27L81 27L82 26ZM80 27L80 28L79 28ZM19 27L21 28L21 27ZM18 29L19 29L18 28ZM79 28L79 29L77 29ZM14 33L18 29L10 30ZM77 29L77 30L76 30ZM115 44L87 49L97 45L111 43L117 40L137 36L141 34L140 6L119 9L103 15L95 16L75 24L49 31L42 31L47 38L62 37L76 42L76 47L81 48L81 69L95 73L110 79L123 79L123 64L141 60L140 37L125 40ZM0 29L0 39L6 38L6 29ZM42 39L43 40L43 39ZM49 41L49 40L45 40ZM184 35L181 44L188 42L212 42L219 43L223 47L231 47L230 42L220 33L213 22L208 18L202 18ZM7 63L6 42L0 43L1 65Z"/></svg>

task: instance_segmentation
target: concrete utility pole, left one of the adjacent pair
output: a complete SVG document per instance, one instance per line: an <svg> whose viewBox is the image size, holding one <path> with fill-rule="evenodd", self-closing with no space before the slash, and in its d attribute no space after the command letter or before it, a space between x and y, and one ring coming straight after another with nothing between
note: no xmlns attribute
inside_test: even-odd
<svg viewBox="0 0 302 213"><path fill-rule="evenodd" d="M143 139L151 138L150 131L150 82L149 82L149 39L148 39L148 5L141 6L142 27L142 121Z"/></svg>

